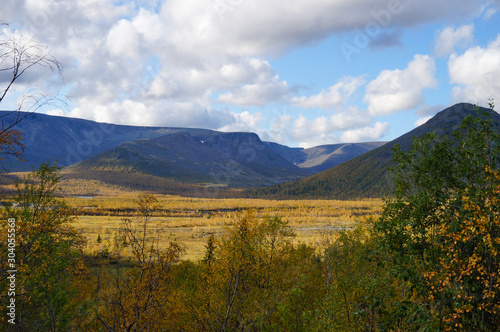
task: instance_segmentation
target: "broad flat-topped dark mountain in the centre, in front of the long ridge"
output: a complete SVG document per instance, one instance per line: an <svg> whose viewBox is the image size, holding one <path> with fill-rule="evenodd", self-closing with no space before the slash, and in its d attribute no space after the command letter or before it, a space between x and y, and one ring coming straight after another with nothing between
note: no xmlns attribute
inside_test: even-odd
<svg viewBox="0 0 500 332"><path fill-rule="evenodd" d="M110 170L232 187L269 185L311 174L252 133L172 133L123 143L68 167L73 173Z"/></svg>

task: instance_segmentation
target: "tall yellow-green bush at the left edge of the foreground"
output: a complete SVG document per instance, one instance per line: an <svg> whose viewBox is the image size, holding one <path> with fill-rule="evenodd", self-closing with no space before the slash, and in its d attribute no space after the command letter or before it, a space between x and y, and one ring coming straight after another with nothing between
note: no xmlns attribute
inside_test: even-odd
<svg viewBox="0 0 500 332"><path fill-rule="evenodd" d="M47 162L25 176L16 184L15 205L3 216L16 224L16 324L10 331L69 328L71 312L80 305L75 281L86 270L80 259L84 240L70 226L75 219L70 208L56 197L58 171ZM7 229L1 225L0 288L7 289ZM2 306L8 300L2 294Z"/></svg>

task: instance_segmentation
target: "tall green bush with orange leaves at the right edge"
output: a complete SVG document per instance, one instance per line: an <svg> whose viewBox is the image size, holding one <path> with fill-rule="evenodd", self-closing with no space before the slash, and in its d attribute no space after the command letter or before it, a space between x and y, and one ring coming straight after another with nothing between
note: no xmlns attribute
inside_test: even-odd
<svg viewBox="0 0 500 332"><path fill-rule="evenodd" d="M396 147L395 161L396 195L375 228L411 289L403 315L416 330L496 330L500 134L491 114L469 115L450 136L415 138L407 153Z"/></svg>

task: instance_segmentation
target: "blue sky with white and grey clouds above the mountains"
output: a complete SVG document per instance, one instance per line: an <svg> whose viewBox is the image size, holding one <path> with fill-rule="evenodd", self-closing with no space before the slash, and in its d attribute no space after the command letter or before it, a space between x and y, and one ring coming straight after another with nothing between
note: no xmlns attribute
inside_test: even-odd
<svg viewBox="0 0 500 332"><path fill-rule="evenodd" d="M64 66L52 115L252 131L309 147L392 140L500 96L500 1L7 0L5 36ZM2 75L6 75L2 73ZM7 77L1 77L0 82ZM17 92L17 94L16 94Z"/></svg>

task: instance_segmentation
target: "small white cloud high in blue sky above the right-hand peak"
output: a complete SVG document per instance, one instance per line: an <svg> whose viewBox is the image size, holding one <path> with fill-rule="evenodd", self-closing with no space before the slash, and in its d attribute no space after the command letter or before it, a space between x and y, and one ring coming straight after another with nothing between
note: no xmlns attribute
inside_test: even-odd
<svg viewBox="0 0 500 332"><path fill-rule="evenodd" d="M474 25L468 24L456 29L447 27L436 38L434 52L437 56L446 56L455 51L457 47L467 47L474 36Z"/></svg>

